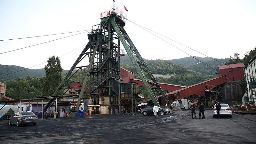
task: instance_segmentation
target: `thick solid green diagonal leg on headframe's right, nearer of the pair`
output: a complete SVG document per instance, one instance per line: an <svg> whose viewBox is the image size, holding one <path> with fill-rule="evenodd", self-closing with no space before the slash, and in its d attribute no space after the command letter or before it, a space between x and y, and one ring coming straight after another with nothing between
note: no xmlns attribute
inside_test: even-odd
<svg viewBox="0 0 256 144"><path fill-rule="evenodd" d="M111 25L113 26L113 28L115 29L116 34L118 35L120 41L122 42L122 44L123 44L123 46L124 46L124 49L126 50L128 56L130 57L130 59L131 59L131 61L132 61L132 64L133 64L133 66L135 67L137 73L139 74L142 83L145 85L145 88L146 88L146 90L147 90L149 96L151 97L153 103L154 103L156 106L159 106L159 103L157 102L157 100L156 100L156 98L155 98L155 96L154 96L152 90L150 89L146 78L143 76L143 74L142 74L142 72L141 72L141 70L140 70L140 68L139 68L138 63L137 63L136 60L134 59L134 57L133 57L133 55L132 55L132 52L131 52L129 46L128 46L128 44L126 43L126 41L125 41L125 39L124 39L124 37L123 37L123 35L122 35L122 32L120 31L120 29L118 28L118 25L116 24L115 17L110 20L110 23L111 23Z"/></svg>

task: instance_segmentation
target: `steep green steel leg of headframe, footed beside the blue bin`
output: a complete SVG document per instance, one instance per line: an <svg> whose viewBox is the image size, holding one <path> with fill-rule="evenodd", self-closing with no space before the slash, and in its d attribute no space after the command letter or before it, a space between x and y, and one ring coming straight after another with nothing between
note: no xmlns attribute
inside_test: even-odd
<svg viewBox="0 0 256 144"><path fill-rule="evenodd" d="M89 74L90 74L91 69L92 69L92 63L94 62L94 57L95 57L96 52L98 50L99 43L100 43L100 36L99 36L99 34L97 34L97 43L96 43L96 46L93 49L93 53L92 53L92 57L91 57L91 60L90 60L90 64L89 64L88 70L87 70L85 78L84 78L84 82L83 82L83 85L82 85L81 92L80 92L79 97L77 99L76 110L78 110L79 107L80 107L80 103L81 103L81 100L82 100L82 97L83 97L83 94L84 94L84 89L86 87L86 84L87 84L87 81L88 81L88 77L89 77Z"/></svg>

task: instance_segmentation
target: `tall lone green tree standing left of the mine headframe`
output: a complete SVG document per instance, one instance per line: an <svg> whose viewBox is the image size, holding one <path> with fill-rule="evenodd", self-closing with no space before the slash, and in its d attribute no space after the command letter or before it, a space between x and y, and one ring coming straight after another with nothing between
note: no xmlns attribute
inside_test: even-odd
<svg viewBox="0 0 256 144"><path fill-rule="evenodd" d="M62 68L60 58L55 56L47 60L47 65L44 67L46 77L43 82L42 94L44 96L51 96L62 81Z"/></svg>

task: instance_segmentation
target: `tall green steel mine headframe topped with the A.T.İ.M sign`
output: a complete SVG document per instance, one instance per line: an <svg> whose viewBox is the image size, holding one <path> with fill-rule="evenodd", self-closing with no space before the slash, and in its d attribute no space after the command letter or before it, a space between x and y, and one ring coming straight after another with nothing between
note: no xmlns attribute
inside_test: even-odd
<svg viewBox="0 0 256 144"><path fill-rule="evenodd" d="M105 106L101 109L108 108L110 111L118 109L120 104L119 85L124 80L124 77L120 75L120 57L124 55L124 50L120 50L121 41L153 103L159 106L157 96L160 95L171 106L146 62L124 30L124 26L125 18L116 9L112 9L109 16L101 18L100 24L94 25L93 30L88 32L88 44L53 93L53 96L59 93L61 89L66 89L67 87L64 87L65 83L81 70L83 85L76 109L79 109L82 100L87 106L88 104L95 106L100 104L100 106ZM81 61L85 57L89 58L89 65L78 66L81 65ZM149 77L152 82L147 81L145 76ZM87 87L89 87L89 90L85 92ZM74 87L68 88L74 89ZM44 111L52 104L53 100L49 100Z"/></svg>

